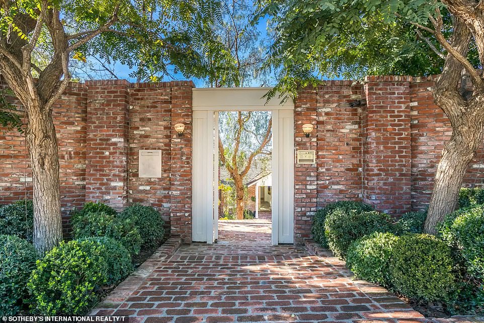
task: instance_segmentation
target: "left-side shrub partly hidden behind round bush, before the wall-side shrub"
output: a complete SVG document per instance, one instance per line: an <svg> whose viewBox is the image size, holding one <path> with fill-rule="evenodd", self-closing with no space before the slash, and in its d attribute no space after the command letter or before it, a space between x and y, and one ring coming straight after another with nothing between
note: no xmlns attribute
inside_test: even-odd
<svg viewBox="0 0 484 323"><path fill-rule="evenodd" d="M74 238L108 236L119 241L131 255L139 253L142 239L133 219L119 218L105 212L77 215L72 220Z"/></svg>

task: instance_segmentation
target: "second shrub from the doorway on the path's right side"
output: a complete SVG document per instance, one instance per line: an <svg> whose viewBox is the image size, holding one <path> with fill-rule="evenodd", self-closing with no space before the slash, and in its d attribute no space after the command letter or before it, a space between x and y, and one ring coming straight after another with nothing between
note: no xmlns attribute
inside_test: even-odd
<svg viewBox="0 0 484 323"><path fill-rule="evenodd" d="M325 235L331 251L344 259L353 241L373 232L387 232L390 227L387 214L336 209L326 216Z"/></svg>

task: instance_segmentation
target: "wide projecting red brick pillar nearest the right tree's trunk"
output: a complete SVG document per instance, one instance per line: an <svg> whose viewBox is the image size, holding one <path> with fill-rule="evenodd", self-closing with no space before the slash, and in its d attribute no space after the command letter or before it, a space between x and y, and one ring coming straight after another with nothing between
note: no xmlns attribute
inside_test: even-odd
<svg viewBox="0 0 484 323"><path fill-rule="evenodd" d="M363 111L363 201L379 211L411 209L410 76L368 76Z"/></svg>

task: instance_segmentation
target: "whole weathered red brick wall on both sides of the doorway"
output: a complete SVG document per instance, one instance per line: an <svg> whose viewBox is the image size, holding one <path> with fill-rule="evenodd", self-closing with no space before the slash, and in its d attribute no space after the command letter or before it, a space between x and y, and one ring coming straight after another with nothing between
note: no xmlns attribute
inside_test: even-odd
<svg viewBox="0 0 484 323"><path fill-rule="evenodd" d="M296 243L310 237L314 212L329 202L363 200L392 214L425 208L451 134L433 103L434 82L435 76L372 76L301 90L294 146L316 150L316 164L294 166ZM85 201L117 209L140 202L162 213L171 234L191 242L192 88L188 81L70 84L53 110L65 230L70 210ZM182 137L173 128L178 122L186 125ZM314 125L309 138L304 123ZM161 178L138 178L139 149L162 151ZM481 146L464 185L484 184L483 158ZM0 128L0 204L31 198L29 165L24 135Z"/></svg>

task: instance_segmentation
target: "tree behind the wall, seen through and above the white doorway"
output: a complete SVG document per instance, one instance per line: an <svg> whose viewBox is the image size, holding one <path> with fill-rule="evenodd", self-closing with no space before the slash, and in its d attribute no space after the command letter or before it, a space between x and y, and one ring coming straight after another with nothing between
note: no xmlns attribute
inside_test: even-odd
<svg viewBox="0 0 484 323"><path fill-rule="evenodd" d="M270 75L262 68L266 39L251 23L256 7L253 2L222 0L222 20L212 26L216 43L204 44L209 70L209 87L244 87L267 85ZM253 160L270 154L271 116L267 112L222 112L219 114L220 160L230 174L235 188L236 217L244 218L244 177Z"/></svg>

